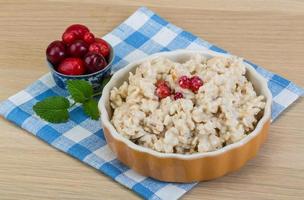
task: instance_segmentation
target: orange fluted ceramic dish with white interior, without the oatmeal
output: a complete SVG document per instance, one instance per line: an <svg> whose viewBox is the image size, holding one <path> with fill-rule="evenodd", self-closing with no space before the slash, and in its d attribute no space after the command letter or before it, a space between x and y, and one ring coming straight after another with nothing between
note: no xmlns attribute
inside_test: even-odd
<svg viewBox="0 0 304 200"><path fill-rule="evenodd" d="M271 118L272 97L265 79L247 63L245 63L246 76L252 82L257 93L266 97L266 107L256 128L242 140L216 151L184 155L160 153L139 146L116 131L111 123L110 90L115 86L120 86L123 81L128 79L129 72L134 72L138 64L147 59L164 56L176 62L183 62L189 59L193 53L200 53L206 57L230 56L209 50L177 50L157 53L130 63L116 72L103 90L98 106L108 145L121 162L139 174L168 182L193 182L215 179L245 165L249 159L257 154L261 144L265 141Z"/></svg>

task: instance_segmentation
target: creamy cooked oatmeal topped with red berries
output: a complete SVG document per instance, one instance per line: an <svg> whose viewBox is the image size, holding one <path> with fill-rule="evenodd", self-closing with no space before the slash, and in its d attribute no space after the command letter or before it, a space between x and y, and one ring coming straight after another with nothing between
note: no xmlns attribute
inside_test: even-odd
<svg viewBox="0 0 304 200"><path fill-rule="evenodd" d="M159 152L222 148L246 137L265 107L245 72L237 57L146 61L111 90L112 123L132 142Z"/></svg>

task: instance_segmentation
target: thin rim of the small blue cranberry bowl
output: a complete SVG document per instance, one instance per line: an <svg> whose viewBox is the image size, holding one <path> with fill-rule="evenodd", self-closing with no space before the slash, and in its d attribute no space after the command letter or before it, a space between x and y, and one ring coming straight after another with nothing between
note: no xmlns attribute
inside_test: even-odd
<svg viewBox="0 0 304 200"><path fill-rule="evenodd" d="M58 74L59 76L63 76L63 77L65 77L65 78L88 78L88 77L94 76L94 75L96 75L96 74L102 73L102 72L104 72L104 71L107 71L107 70L111 67L111 65L113 64L113 61L114 61L114 58L115 58L115 52L114 52L114 48L112 47L112 45L111 45L109 42L107 42L106 40L104 40L104 41L105 41L105 42L109 45L109 47L110 47L110 57L109 57L109 58L110 58L110 59L109 59L110 62L108 62L107 66L106 66L105 68L103 68L102 70L99 70L99 71L94 72L94 73L91 73L91 74L83 74L83 75L66 75L66 74L62 74L62 73L56 71L56 70L54 69L54 65L53 65L50 61L48 61L48 59L46 59L46 62L47 62L47 64L48 64L48 68L50 69L50 71L51 71L52 73Z"/></svg>

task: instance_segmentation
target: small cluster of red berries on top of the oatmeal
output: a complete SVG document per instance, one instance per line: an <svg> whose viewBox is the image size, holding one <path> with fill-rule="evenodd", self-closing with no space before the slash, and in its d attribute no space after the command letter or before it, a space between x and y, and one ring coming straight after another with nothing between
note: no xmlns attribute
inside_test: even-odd
<svg viewBox="0 0 304 200"><path fill-rule="evenodd" d="M183 89L189 89L193 93L197 93L199 88L203 86L204 83L202 79L198 76L192 76L192 77L181 76L178 79L178 84ZM174 92L170 88L167 81L159 80L157 81L155 86L156 86L155 93L160 99L166 98L171 95L174 100L184 98L184 95L181 92Z"/></svg>

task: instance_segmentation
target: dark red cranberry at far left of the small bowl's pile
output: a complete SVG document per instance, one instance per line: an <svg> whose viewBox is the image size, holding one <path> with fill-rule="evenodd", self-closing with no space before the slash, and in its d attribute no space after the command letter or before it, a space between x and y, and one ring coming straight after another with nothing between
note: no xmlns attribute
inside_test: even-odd
<svg viewBox="0 0 304 200"><path fill-rule="evenodd" d="M53 41L46 49L46 57L53 65L60 63L65 56L65 45L59 40Z"/></svg>

